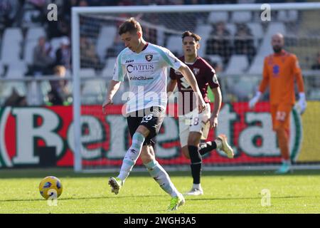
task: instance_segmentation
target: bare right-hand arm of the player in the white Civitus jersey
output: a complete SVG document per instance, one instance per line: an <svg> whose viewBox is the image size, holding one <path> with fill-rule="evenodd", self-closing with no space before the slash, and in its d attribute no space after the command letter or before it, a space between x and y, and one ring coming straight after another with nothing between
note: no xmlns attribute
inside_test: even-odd
<svg viewBox="0 0 320 228"><path fill-rule="evenodd" d="M206 103L203 100L203 97L201 95L200 89L198 87L198 83L196 81L196 77L193 75L192 71L186 64L181 64L180 68L178 68L178 71L180 71L184 78L186 78L186 81L188 81L189 85L193 89L193 91L196 93L196 99L198 103L198 110L199 113L202 113L202 111L206 108Z"/></svg>

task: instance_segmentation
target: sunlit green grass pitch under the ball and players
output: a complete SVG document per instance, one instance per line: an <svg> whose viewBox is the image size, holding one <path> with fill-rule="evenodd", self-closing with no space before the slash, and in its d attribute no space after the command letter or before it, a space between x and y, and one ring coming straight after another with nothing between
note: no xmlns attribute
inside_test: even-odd
<svg viewBox="0 0 320 228"><path fill-rule="evenodd" d="M56 207L38 192L43 177L54 175L63 184ZM119 195L110 192L105 174L75 174L70 169L0 170L0 213L170 213L170 197L147 172L132 172ZM181 192L191 187L189 172L169 172ZM204 195L186 197L174 213L319 213L320 170L272 172L203 171ZM263 189L270 190L271 206L262 207Z"/></svg>

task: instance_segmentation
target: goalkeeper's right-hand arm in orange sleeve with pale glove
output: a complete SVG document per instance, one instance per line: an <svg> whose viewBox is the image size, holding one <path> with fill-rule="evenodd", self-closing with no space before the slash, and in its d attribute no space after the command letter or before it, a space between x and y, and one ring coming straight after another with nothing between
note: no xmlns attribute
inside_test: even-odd
<svg viewBox="0 0 320 228"><path fill-rule="evenodd" d="M297 82L298 90L299 90L299 110L301 110L301 113L304 113L304 110L306 110L306 94L304 93L304 79L302 77L302 71L299 66L299 61L297 56L293 56L292 61L292 69L294 73L294 78Z"/></svg>

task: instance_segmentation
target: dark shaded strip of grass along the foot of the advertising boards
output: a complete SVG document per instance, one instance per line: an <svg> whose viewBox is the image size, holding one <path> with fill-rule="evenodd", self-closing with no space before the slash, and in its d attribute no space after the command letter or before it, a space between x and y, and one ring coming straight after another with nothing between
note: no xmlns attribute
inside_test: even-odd
<svg viewBox="0 0 320 228"><path fill-rule="evenodd" d="M0 179L8 178L43 178L46 176L56 176L59 178L67 177L112 177L117 175L117 172L100 172L100 173L79 173L74 172L72 168L18 168L18 169L0 169ZM190 171L171 172L170 177L189 177ZM320 170L294 170L293 173L289 173L282 176L297 176L297 175L320 175ZM149 172L146 172L144 168L140 170L133 170L130 176L132 177L150 177ZM274 171L203 171L203 176L279 176L275 175Z"/></svg>

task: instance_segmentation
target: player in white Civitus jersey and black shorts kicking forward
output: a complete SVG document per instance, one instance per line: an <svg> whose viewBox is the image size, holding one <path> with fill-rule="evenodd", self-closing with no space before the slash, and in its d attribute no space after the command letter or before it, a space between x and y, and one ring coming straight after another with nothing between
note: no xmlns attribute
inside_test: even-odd
<svg viewBox="0 0 320 228"><path fill-rule="evenodd" d="M164 120L167 103L167 68L171 67L181 72L190 83L196 93L199 113L206 108L206 104L196 78L188 66L178 60L168 49L144 41L142 27L138 21L134 18L124 21L119 26L119 36L126 48L117 56L114 76L108 86L102 112L106 113L107 105L112 104L114 94L119 89L121 81L124 81L124 76L127 75L130 91L125 115L132 136L132 145L124 156L119 175L110 177L109 185L111 191L117 195L140 155L151 177L171 195L168 209L176 210L184 204L185 200L174 187L164 168L156 161L152 140L159 132Z"/></svg>

